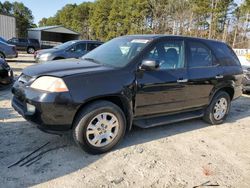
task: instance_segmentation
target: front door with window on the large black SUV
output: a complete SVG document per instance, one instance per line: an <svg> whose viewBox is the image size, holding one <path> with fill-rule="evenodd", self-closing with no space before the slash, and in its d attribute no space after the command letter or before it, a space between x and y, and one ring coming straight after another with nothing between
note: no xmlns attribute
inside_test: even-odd
<svg viewBox="0 0 250 188"><path fill-rule="evenodd" d="M186 108L187 70L184 42L158 42L143 59L158 61L158 70L137 74L136 116L175 112Z"/></svg>

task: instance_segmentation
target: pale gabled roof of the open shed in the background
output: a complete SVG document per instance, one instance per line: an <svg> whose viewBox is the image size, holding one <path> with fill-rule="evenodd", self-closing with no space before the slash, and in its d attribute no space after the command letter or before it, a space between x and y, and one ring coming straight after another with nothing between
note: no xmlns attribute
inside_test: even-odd
<svg viewBox="0 0 250 188"><path fill-rule="evenodd" d="M45 31L45 32L52 32L52 33L65 33L65 34L80 35L79 33L61 25L29 28L28 31Z"/></svg>

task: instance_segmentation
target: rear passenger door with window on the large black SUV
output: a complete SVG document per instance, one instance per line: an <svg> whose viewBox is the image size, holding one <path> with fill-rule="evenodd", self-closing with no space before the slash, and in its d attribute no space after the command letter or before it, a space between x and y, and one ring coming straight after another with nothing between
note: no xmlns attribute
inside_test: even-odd
<svg viewBox="0 0 250 188"><path fill-rule="evenodd" d="M210 94L218 82L223 80L224 70L215 54L201 40L187 41L187 106L199 108L209 103Z"/></svg>

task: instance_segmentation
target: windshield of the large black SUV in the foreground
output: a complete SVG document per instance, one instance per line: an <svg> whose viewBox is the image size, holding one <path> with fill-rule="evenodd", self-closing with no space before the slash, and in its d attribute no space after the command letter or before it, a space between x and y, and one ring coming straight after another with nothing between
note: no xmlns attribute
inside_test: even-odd
<svg viewBox="0 0 250 188"><path fill-rule="evenodd" d="M149 42L147 39L116 38L94 49L82 58L107 66L124 67Z"/></svg>

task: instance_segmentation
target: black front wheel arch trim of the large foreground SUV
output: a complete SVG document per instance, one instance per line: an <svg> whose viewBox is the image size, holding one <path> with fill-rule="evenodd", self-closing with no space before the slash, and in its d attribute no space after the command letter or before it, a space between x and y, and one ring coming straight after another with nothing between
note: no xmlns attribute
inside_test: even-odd
<svg viewBox="0 0 250 188"><path fill-rule="evenodd" d="M85 103L83 103L78 108L78 110L74 116L72 127L73 127L73 124L76 120L76 117L84 108L86 108L86 106L92 104L93 102L101 101L101 100L112 102L121 108L121 110L123 111L125 118L126 118L126 131L130 131L132 128L132 121L133 121L132 102L129 102L129 100L127 100L125 97L118 96L118 95L102 96L102 97L90 99L90 100L86 101Z"/></svg>

